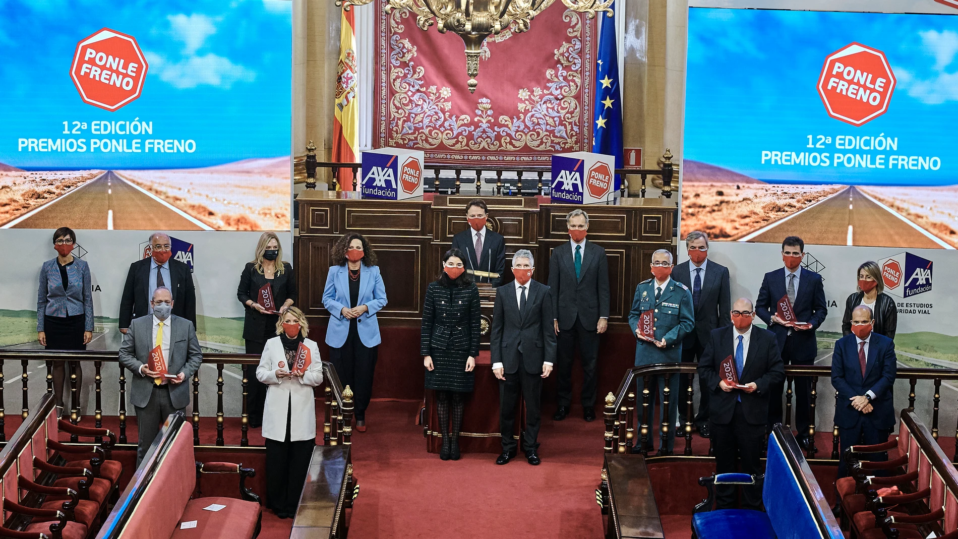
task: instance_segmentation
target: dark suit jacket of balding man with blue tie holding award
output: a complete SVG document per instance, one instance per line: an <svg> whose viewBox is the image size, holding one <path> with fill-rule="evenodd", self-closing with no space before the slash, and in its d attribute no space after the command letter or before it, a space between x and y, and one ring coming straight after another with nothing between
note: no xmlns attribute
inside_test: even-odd
<svg viewBox="0 0 958 539"><path fill-rule="evenodd" d="M710 262L711 263L711 262ZM764 425L768 421L768 398L770 389L785 380L785 364L779 353L775 334L767 329L752 326L752 335L745 355L745 368L739 383L755 382L757 392L741 390L723 392L719 388L720 365L728 356L735 356L735 326L719 327L709 335L708 344L698 360L698 376L704 381L709 395L709 418L719 425L732 421L735 403L741 395L741 411L750 425ZM778 398L778 395L776 395Z"/></svg>

